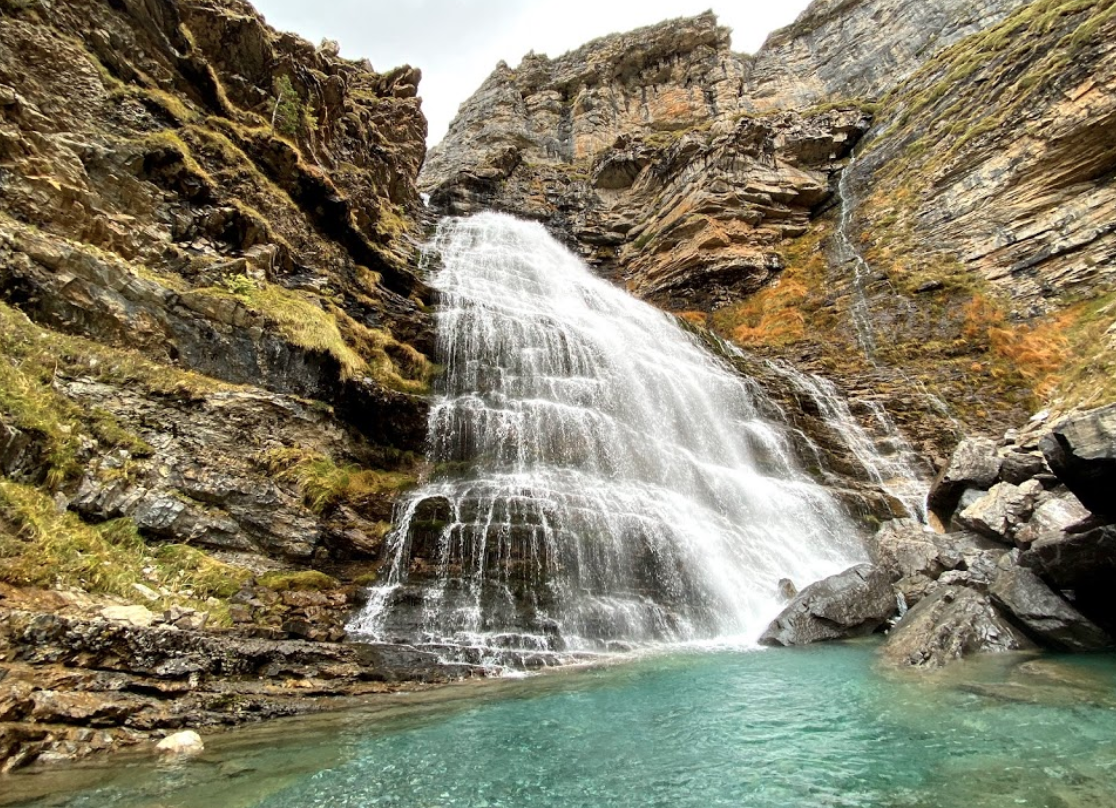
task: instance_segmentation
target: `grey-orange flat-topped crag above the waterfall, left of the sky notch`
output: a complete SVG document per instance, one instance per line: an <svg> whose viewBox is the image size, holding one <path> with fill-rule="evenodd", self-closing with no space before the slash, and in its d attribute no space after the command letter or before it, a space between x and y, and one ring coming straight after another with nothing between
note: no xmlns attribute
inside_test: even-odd
<svg viewBox="0 0 1116 808"><path fill-rule="evenodd" d="M681 131L734 110L743 58L706 12L501 61L427 155L427 185L509 147L540 162L597 153L624 132Z"/></svg>

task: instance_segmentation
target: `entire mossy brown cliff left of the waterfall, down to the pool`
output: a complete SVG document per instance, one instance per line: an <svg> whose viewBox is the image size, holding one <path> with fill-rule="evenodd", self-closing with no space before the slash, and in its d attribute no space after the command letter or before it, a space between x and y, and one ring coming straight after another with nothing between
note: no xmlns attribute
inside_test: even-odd
<svg viewBox="0 0 1116 808"><path fill-rule="evenodd" d="M7 766L446 675L333 644L425 440L417 81L240 0L0 2Z"/></svg>

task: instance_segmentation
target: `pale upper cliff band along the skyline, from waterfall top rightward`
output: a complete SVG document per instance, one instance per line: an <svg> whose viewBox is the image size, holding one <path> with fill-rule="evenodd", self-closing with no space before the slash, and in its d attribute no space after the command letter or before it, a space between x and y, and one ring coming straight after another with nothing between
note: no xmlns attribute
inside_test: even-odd
<svg viewBox="0 0 1116 808"><path fill-rule="evenodd" d="M484 164L576 162L622 134L725 133L743 114L870 100L1023 2L817 0L754 57L732 52L710 11L501 61L431 150L423 185Z"/></svg>

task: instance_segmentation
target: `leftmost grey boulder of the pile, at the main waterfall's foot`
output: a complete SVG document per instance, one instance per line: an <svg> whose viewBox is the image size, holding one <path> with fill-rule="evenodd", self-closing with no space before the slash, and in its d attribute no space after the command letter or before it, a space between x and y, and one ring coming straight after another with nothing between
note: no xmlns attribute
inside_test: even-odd
<svg viewBox="0 0 1116 808"><path fill-rule="evenodd" d="M763 645L805 645L872 634L897 609L888 574L870 564L811 584L760 637Z"/></svg>

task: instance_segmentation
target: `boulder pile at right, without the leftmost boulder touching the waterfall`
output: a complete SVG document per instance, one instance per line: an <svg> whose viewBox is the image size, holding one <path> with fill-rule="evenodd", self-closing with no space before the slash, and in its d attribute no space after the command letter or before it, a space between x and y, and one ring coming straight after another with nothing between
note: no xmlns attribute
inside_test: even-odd
<svg viewBox="0 0 1116 808"><path fill-rule="evenodd" d="M941 516L980 536L936 535L907 521L881 528L873 558L891 573L904 599L915 604L885 645L889 662L940 666L969 653L1024 647L1020 637L1058 651L1113 645L1114 527L1103 510L1088 510L1046 463L1033 462L1041 460L1035 454L1039 445L1060 445L1059 435L1089 435L1091 440L1077 445L1087 443L1091 455L1106 456L1113 439L1103 436L1096 424L1108 410L1052 425L1036 419L999 445L963 441L947 469L966 478L970 487L955 510ZM1051 465L1055 471L1062 468L1057 458ZM1020 479L1024 468L1033 475ZM1019 484L1008 482L1009 475ZM940 478L939 491L942 485ZM925 602L933 605L924 607ZM951 639L953 633L960 633L959 638Z"/></svg>

